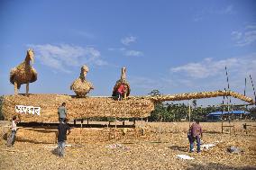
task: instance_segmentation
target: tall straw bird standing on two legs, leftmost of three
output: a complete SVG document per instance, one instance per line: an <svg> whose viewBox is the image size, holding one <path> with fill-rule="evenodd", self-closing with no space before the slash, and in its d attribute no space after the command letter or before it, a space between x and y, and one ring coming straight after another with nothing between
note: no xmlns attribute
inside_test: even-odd
<svg viewBox="0 0 256 170"><path fill-rule="evenodd" d="M27 50L27 56L23 63L11 69L10 82L14 85L14 94L18 94L21 85L26 84L26 94L29 93L29 84L37 80L37 72L31 66L33 63L34 53L32 49Z"/></svg>

